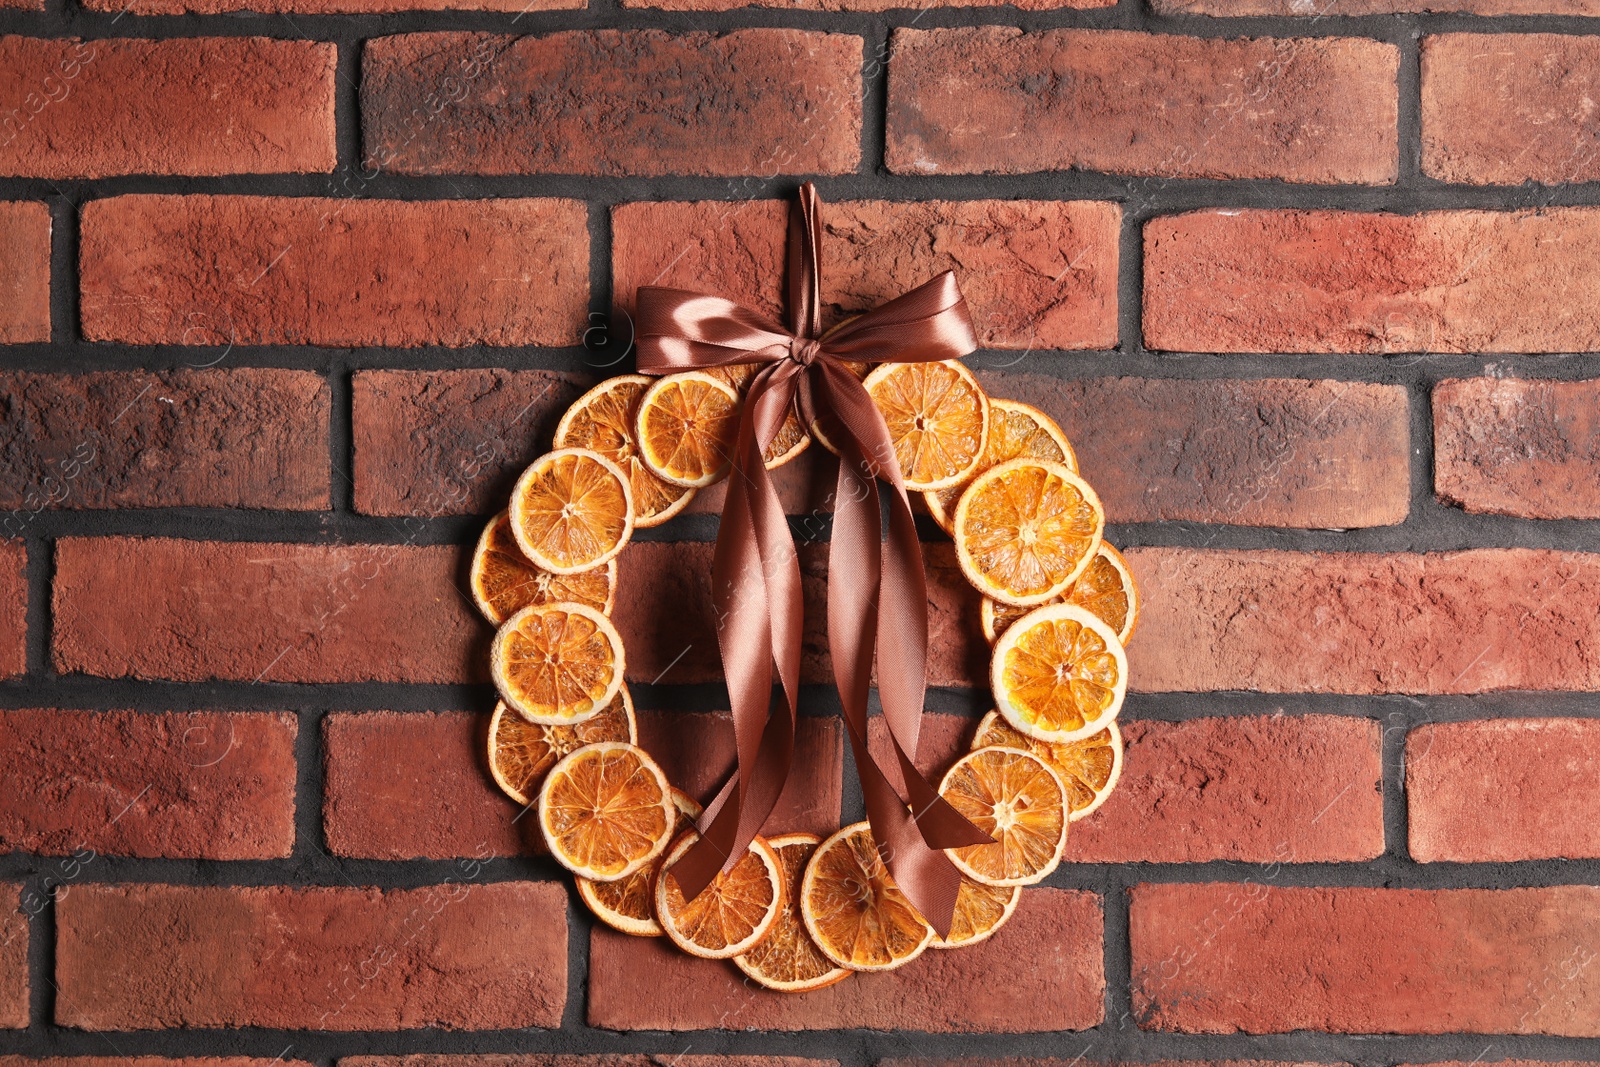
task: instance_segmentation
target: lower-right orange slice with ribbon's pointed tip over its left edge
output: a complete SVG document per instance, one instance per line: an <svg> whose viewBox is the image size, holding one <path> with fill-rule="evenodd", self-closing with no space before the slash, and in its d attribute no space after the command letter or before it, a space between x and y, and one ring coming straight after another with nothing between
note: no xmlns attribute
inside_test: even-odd
<svg viewBox="0 0 1600 1067"><path fill-rule="evenodd" d="M986 886L1030 886L1061 862L1067 845L1067 790L1050 765L1022 749L979 749L939 782L990 845L946 849L950 862Z"/></svg>

